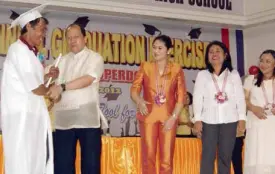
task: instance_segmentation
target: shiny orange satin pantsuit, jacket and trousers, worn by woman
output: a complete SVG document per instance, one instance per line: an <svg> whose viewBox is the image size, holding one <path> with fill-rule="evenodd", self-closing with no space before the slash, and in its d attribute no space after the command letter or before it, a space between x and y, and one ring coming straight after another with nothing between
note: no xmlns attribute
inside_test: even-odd
<svg viewBox="0 0 275 174"><path fill-rule="evenodd" d="M173 154L177 124L169 131L163 131L163 123L172 115L176 103L184 103L186 87L184 73L180 65L169 62L167 69L160 76L159 84L166 79L165 96L166 102L159 106L155 104L156 78L158 76L157 66L154 62L143 62L136 74L131 87L131 93L140 94L143 90L143 98L149 102L147 108L149 114L146 116L137 112L141 135L142 173L156 173L156 152L159 145L160 152L160 174L172 174Z"/></svg>

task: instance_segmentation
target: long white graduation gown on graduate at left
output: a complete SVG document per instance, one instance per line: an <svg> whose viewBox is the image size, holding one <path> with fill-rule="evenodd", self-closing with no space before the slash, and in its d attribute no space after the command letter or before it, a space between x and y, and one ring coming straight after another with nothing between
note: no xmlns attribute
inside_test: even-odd
<svg viewBox="0 0 275 174"><path fill-rule="evenodd" d="M32 93L43 83L38 58L20 40L13 43L4 62L1 88L5 174L53 174L49 113L43 96Z"/></svg>

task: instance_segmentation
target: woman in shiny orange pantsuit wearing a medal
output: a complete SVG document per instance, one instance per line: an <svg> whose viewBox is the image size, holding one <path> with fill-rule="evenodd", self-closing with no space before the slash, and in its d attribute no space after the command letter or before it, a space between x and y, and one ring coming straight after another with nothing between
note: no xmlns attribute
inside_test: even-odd
<svg viewBox="0 0 275 174"><path fill-rule="evenodd" d="M142 152L142 173L156 173L159 145L160 174L173 173L173 153L178 115L183 107L186 88L180 65L169 61L171 39L161 35L153 41L154 61L143 62L131 87L137 105ZM143 97L140 92L143 89Z"/></svg>

